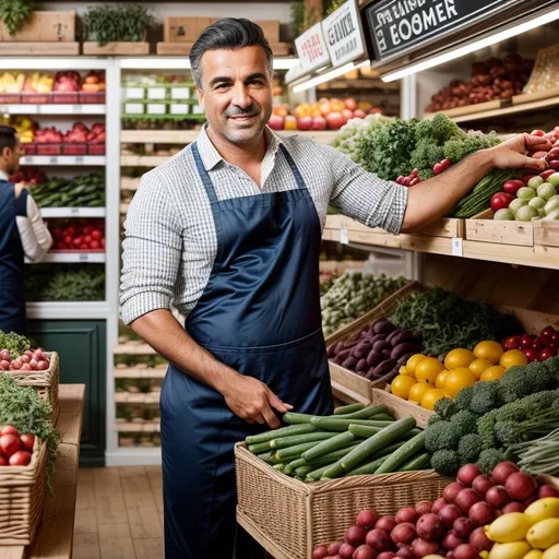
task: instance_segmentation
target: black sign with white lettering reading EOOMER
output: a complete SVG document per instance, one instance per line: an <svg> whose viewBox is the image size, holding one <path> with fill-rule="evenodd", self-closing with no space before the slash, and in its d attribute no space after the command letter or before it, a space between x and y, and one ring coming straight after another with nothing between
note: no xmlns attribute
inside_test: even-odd
<svg viewBox="0 0 559 559"><path fill-rule="evenodd" d="M379 0L361 19L374 59L415 50L522 0ZM372 55L372 52L370 52Z"/></svg>

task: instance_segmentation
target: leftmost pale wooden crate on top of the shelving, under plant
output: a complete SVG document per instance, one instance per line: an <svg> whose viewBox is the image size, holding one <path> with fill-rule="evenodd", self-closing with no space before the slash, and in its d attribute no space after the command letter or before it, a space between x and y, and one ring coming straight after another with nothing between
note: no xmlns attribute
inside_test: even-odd
<svg viewBox="0 0 559 559"><path fill-rule="evenodd" d="M0 41L5 43L73 43L75 11L33 12L13 36L0 21Z"/></svg>

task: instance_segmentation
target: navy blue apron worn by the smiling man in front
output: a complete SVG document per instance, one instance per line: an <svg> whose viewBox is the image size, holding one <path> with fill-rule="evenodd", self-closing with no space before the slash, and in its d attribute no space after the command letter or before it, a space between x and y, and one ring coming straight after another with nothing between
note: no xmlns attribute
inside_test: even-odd
<svg viewBox="0 0 559 559"><path fill-rule="evenodd" d="M321 329L321 227L288 152L294 189L217 200L197 144L192 154L212 205L217 255L187 319L192 338L241 374L264 382L297 412L332 412ZM162 389L166 559L255 559L264 550L235 520L234 445L265 430L215 390L170 366Z"/></svg>

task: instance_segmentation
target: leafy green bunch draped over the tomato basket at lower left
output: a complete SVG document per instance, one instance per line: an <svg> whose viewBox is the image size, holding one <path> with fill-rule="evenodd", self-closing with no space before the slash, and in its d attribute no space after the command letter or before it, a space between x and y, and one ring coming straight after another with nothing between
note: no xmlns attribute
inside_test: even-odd
<svg viewBox="0 0 559 559"><path fill-rule="evenodd" d="M32 386L20 386L10 374L0 374L0 425L12 425L21 433L32 433L47 444L47 490L58 456L60 433L50 423L51 407Z"/></svg>

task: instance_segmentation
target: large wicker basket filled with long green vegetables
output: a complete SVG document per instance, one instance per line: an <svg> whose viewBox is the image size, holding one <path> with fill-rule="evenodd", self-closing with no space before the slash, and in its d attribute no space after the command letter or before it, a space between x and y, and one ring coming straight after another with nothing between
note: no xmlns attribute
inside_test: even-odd
<svg viewBox="0 0 559 559"><path fill-rule="evenodd" d="M309 559L316 546L342 540L361 509L393 514L437 499L452 481L430 469L304 484L255 457L245 443L236 445L235 459L237 521L275 559Z"/></svg>

